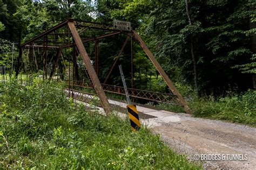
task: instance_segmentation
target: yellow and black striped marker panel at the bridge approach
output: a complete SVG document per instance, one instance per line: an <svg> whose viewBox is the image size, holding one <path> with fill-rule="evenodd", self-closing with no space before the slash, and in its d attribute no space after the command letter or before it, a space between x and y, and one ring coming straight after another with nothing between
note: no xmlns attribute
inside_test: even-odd
<svg viewBox="0 0 256 170"><path fill-rule="evenodd" d="M136 105L132 105L132 104L127 105L127 110L130 117L132 131L139 130L140 129L139 112L136 109Z"/></svg>

